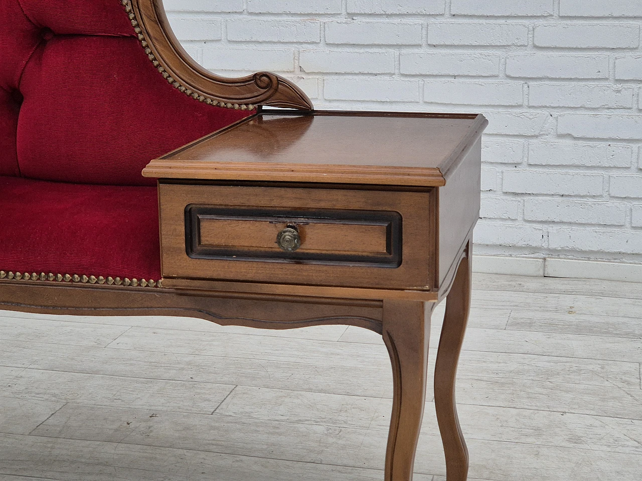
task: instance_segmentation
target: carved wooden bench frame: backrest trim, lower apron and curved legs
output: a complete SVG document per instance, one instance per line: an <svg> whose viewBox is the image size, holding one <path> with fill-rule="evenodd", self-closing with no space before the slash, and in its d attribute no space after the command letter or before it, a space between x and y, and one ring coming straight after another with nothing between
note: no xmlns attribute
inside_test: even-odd
<svg viewBox="0 0 642 481"><path fill-rule="evenodd" d="M171 32L162 0L114 1L123 4L141 47L148 51L159 74L196 101L245 110L257 105L312 108L298 87L275 74L260 72L225 79L202 69ZM24 278L0 279L0 308L84 316L184 316L220 325L268 329L340 324L372 330L383 336L394 379L385 480L412 481L426 394L430 314L437 301L446 297L435 365L435 404L446 453L447 481L465 481L468 452L457 418L455 377L470 303L470 245L469 232L442 290L428 292L429 298L384 290L379 298L350 298L340 287L316 289L313 294L297 286L288 292L267 288L261 292L260 286L254 285L255 292L248 292L243 283L229 282L225 283L225 291L171 289L138 282L126 286L101 278L94 282L79 278L72 283L62 282L66 280L62 276L57 279L53 274L34 273ZM42 282L33 282L37 280Z"/></svg>

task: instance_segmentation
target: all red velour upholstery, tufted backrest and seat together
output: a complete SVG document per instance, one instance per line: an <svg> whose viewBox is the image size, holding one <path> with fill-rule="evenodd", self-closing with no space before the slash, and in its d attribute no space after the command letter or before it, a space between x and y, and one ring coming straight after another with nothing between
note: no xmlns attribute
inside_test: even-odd
<svg viewBox="0 0 642 481"><path fill-rule="evenodd" d="M0 270L158 280L143 167L248 114L169 85L120 0L0 0Z"/></svg>

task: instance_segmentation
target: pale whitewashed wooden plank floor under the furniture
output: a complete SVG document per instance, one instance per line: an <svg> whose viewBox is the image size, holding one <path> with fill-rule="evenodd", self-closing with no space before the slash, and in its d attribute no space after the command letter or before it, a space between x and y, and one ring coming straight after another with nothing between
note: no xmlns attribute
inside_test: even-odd
<svg viewBox="0 0 642 481"><path fill-rule="evenodd" d="M474 276L471 479L642 479L641 300L642 284ZM3 481L383 480L392 374L360 328L0 312L0 389ZM445 480L432 401L415 471Z"/></svg>

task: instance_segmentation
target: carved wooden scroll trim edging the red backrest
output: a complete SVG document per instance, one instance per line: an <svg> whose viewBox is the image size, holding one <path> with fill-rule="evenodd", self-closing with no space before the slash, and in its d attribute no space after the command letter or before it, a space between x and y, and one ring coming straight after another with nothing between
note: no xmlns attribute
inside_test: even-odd
<svg viewBox="0 0 642 481"><path fill-rule="evenodd" d="M269 105L312 110L306 94L271 72L225 78L198 65L180 46L165 14L162 0L120 0L135 33L154 67L169 85L207 105L254 110Z"/></svg>

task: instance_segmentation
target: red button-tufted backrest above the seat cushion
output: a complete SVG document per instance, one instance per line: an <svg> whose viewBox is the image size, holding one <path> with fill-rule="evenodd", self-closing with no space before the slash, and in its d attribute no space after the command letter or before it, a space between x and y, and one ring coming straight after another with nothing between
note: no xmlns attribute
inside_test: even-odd
<svg viewBox="0 0 642 481"><path fill-rule="evenodd" d="M169 85L120 0L0 0L0 176L153 185L152 158L245 115Z"/></svg>

